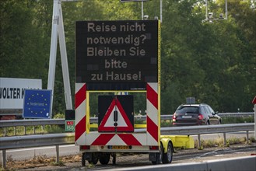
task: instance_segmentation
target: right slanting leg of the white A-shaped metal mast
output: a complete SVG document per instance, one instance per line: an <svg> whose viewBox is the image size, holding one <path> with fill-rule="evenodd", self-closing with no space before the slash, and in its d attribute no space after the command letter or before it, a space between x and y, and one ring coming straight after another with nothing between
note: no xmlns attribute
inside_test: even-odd
<svg viewBox="0 0 256 171"><path fill-rule="evenodd" d="M62 17L62 9L61 3L58 4L58 14L59 14L59 23L58 23L58 40L60 44L61 51L61 66L62 66L62 75L65 89L65 103L66 109L72 110L72 94L70 90L70 82L69 82L69 72L68 72L68 58L67 58L67 50L65 43L65 32L63 26L63 17Z"/></svg>

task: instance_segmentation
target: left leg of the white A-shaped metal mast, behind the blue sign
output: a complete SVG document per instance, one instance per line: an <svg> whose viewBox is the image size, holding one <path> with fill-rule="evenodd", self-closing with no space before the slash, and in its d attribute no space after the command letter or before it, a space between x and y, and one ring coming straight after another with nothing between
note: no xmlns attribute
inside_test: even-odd
<svg viewBox="0 0 256 171"><path fill-rule="evenodd" d="M58 3L60 0L53 0L53 14L52 14L52 26L51 26L51 50L50 50L50 62L48 72L47 89L52 90L51 94L51 116L52 116L52 103L54 97L54 76L56 66L56 54L57 54L57 43L58 43Z"/></svg>

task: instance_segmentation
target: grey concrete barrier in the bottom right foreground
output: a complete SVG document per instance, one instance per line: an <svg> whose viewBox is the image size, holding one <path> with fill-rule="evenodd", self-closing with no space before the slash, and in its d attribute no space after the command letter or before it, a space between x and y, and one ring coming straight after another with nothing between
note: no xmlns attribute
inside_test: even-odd
<svg viewBox="0 0 256 171"><path fill-rule="evenodd" d="M126 167L124 169L107 169L107 170L146 170L146 171L255 171L256 170L256 155L210 160L205 162L189 162L181 164L153 165L153 166L138 166ZM106 170L105 170L106 171Z"/></svg>

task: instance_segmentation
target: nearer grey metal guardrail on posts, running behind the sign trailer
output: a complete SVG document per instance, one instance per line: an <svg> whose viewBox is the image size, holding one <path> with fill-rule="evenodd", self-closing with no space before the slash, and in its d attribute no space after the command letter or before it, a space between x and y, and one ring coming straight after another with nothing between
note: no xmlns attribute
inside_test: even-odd
<svg viewBox="0 0 256 171"><path fill-rule="evenodd" d="M135 129L135 132L145 132L146 129ZM226 143L226 133L246 131L248 140L248 131L254 131L254 123L248 124L223 124L223 125L204 125L190 127L162 127L161 134L198 134L198 147L200 147L200 134L224 134L224 144ZM3 159L3 168L6 166L6 150L13 148L30 148L39 146L56 145L57 162L59 161L59 145L69 145L75 142L74 133L63 134L38 134L14 137L0 138Z"/></svg>

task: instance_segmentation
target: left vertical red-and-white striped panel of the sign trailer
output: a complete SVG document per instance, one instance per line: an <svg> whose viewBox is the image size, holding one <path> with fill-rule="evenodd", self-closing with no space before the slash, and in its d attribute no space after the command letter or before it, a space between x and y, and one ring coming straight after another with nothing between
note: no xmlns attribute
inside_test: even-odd
<svg viewBox="0 0 256 171"><path fill-rule="evenodd" d="M75 145L86 142L86 83L75 83Z"/></svg>

